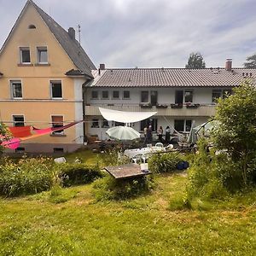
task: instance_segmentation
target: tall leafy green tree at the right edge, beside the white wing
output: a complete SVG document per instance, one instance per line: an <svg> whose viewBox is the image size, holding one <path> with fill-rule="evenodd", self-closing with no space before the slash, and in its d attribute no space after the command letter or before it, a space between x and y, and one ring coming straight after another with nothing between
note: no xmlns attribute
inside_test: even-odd
<svg viewBox="0 0 256 256"><path fill-rule="evenodd" d="M256 87L247 81L219 99L215 119L220 123L213 132L217 148L228 151L247 185L247 177L256 174Z"/></svg>

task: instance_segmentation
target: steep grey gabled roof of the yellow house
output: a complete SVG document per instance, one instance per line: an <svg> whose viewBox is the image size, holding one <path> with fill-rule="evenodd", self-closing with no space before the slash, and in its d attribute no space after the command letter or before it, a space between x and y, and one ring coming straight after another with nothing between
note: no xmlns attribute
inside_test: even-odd
<svg viewBox="0 0 256 256"><path fill-rule="evenodd" d="M61 47L66 51L69 58L73 61L73 64L78 67L79 71L85 73L87 76L92 78L91 70L96 69L92 61L90 61L89 56L84 52L84 49L81 47L79 42L76 39L70 38L68 32L63 29L55 20L53 20L49 15L47 15L44 10L40 9L36 3L32 0L26 2L25 7L22 9L20 16L15 22L15 26L19 22L22 15L25 13L27 7L32 4L32 6L38 11L38 14L42 17L45 24L49 27L49 30L53 33L57 41L61 44ZM9 38L15 30L13 26L11 32L9 33L8 38L3 44L0 54L3 51L3 48L8 43Z"/></svg>

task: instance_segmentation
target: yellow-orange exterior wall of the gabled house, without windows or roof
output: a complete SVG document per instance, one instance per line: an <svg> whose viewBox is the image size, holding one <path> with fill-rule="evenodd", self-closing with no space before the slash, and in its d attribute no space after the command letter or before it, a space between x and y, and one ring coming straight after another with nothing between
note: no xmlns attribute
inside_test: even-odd
<svg viewBox="0 0 256 256"><path fill-rule="evenodd" d="M28 29L29 25L36 29ZM47 47L48 64L38 64L37 47ZM29 47L31 64L20 64L20 47ZM9 41L0 55L0 113L7 125L12 125L12 115L24 115L26 125L38 128L51 126L52 115L63 115L64 122L83 119L82 84L85 79L68 78L65 73L76 69L61 45L50 32L44 20L32 5L28 5L20 21L16 24ZM10 80L21 80L22 99L11 97ZM60 80L62 98L51 99L50 80ZM28 150L37 148L41 152L52 152L55 145L67 143L66 148L77 148L73 144L83 143L83 125L65 130L65 136L45 135L26 141ZM20 147L23 144L20 144ZM64 147L64 148L65 148ZM29 149L30 148L30 149ZM68 149L68 150L69 150ZM66 150L66 149L64 149Z"/></svg>

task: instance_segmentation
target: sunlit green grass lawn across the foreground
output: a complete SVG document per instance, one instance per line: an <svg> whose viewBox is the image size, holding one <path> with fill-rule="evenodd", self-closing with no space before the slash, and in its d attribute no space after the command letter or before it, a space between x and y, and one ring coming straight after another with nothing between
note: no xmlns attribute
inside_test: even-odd
<svg viewBox="0 0 256 256"><path fill-rule="evenodd" d="M186 179L129 201L95 201L92 184L0 199L0 255L255 255L256 193L175 210Z"/></svg>

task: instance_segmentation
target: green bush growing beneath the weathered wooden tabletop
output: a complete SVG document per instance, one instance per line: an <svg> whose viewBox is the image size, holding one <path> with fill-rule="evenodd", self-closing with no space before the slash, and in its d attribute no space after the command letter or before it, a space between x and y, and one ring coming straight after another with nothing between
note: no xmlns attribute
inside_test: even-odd
<svg viewBox="0 0 256 256"><path fill-rule="evenodd" d="M119 180L107 176L95 182L94 195L98 201L122 200L148 192L153 184L153 178L148 176Z"/></svg>

